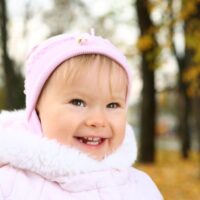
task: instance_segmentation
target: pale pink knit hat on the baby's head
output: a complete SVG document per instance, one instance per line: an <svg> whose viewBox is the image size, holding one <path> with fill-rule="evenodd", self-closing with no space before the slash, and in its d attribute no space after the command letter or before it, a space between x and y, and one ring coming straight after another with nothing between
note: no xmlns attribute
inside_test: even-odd
<svg viewBox="0 0 200 200"><path fill-rule="evenodd" d="M119 63L127 73L129 94L131 71L127 60L108 40L87 33L52 37L36 46L26 61L26 117L33 132L42 135L35 106L45 82L63 61L82 54L101 54Z"/></svg>

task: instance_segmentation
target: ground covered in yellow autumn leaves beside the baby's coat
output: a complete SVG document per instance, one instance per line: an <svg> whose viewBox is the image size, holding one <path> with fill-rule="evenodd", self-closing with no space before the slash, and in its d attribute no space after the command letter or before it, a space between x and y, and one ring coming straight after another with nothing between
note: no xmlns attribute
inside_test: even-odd
<svg viewBox="0 0 200 200"><path fill-rule="evenodd" d="M182 160L175 151L159 151L155 164L137 164L157 184L165 200L200 199L200 160L198 153L191 153Z"/></svg>

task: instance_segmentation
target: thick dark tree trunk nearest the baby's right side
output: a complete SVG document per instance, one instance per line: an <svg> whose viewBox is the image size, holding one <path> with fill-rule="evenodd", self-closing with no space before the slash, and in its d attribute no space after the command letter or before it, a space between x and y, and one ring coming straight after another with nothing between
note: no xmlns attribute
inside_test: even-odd
<svg viewBox="0 0 200 200"><path fill-rule="evenodd" d="M139 157L141 162L153 162L155 159L156 103L153 66L155 64L156 55L153 54L153 52L156 50L156 41L154 34L150 33L153 23L150 19L147 5L148 1L136 1L140 36L150 34L153 41L153 45L150 48L141 51L143 79Z"/></svg>

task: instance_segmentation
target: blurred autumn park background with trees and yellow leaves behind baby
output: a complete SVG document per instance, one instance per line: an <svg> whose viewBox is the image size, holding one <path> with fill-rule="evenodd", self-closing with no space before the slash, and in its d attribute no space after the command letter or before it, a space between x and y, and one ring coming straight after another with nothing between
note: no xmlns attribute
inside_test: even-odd
<svg viewBox="0 0 200 200"><path fill-rule="evenodd" d="M138 140L136 167L165 199L200 199L199 0L0 2L1 110L24 107L24 63L34 45L94 28L132 67L128 120Z"/></svg>

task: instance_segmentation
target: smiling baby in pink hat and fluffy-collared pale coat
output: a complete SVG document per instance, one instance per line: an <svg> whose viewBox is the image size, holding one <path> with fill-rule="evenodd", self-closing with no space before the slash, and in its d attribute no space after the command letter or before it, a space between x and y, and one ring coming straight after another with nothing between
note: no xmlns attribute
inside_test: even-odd
<svg viewBox="0 0 200 200"><path fill-rule="evenodd" d="M132 167L130 69L108 40L58 35L27 58L25 111L0 115L0 200L161 200Z"/></svg>

